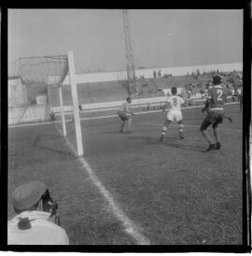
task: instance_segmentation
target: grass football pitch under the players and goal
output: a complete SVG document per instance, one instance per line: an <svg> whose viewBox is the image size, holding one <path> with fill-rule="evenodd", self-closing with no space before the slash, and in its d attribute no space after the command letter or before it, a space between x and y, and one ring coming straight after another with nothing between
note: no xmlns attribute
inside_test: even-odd
<svg viewBox="0 0 252 256"><path fill-rule="evenodd" d="M163 142L161 111L135 115L132 134L119 133L116 112L82 114L83 158L71 122L67 138L59 123L9 128L8 219L11 192L39 179L72 245L242 245L243 117L239 105L225 108L232 123L210 152L201 108L182 110L183 140L174 122Z"/></svg>

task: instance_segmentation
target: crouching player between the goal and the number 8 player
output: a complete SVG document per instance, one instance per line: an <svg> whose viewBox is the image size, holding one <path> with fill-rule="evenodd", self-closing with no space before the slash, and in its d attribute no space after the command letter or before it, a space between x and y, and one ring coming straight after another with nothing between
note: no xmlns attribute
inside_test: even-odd
<svg viewBox="0 0 252 256"><path fill-rule="evenodd" d="M122 121L121 122L121 126L119 129L120 133L123 133L123 129L125 127L125 125L127 124L127 134L131 134L132 133L132 121L133 121L133 116L134 113L131 110L130 104L132 103L132 98L131 97L127 97L126 101L122 103L121 107L119 108L119 118Z"/></svg>

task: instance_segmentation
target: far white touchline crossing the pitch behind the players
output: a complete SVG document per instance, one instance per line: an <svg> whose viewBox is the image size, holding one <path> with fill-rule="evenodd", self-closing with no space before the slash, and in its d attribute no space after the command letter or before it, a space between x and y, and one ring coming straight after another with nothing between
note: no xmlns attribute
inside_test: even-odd
<svg viewBox="0 0 252 256"><path fill-rule="evenodd" d="M239 104L236 102L227 103L226 105L233 105L233 104ZM200 108L203 106L193 106L193 107L181 107L181 109L194 109L194 108ZM106 109L104 109L106 110ZM144 114L151 114L151 113L158 113L162 110L150 110L150 111L142 111L142 112L136 112L135 115L144 115ZM65 113L66 115L67 113ZM73 115L73 113L68 113L69 115ZM81 113L80 113L81 114ZM89 121L89 120L99 120L99 119L106 119L106 118L115 118L118 117L118 115L105 115L105 116L98 116L98 117L90 117L90 118L80 118L80 121ZM66 122L70 122L72 120L65 120ZM8 128L18 128L18 127L25 127L25 126L35 126L35 125L46 125L46 124L52 124L52 123L61 123L62 121L43 121L43 122L32 122L32 123L21 123L21 124L13 124L9 125Z"/></svg>

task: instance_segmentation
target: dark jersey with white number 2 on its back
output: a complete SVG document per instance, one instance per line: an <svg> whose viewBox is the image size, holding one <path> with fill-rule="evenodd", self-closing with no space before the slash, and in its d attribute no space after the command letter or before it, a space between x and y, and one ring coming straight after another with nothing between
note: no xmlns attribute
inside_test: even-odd
<svg viewBox="0 0 252 256"><path fill-rule="evenodd" d="M220 84L209 89L207 92L209 110L224 110L224 105L229 94L231 92Z"/></svg>

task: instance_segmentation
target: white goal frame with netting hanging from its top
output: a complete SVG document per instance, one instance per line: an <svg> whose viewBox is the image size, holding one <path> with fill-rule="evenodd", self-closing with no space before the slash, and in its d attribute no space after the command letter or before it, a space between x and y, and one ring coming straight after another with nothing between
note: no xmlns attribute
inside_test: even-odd
<svg viewBox="0 0 252 256"><path fill-rule="evenodd" d="M80 127L80 117L77 98L77 79L73 51L67 51L67 55L64 54L58 56L21 57L18 59L18 62L21 82L27 88L30 88L35 85L47 86L49 106L51 105L51 99L49 94L50 86L58 88L60 99L60 113L63 125L63 131L59 131L63 136L66 136L67 134L63 106L63 86L69 86L70 84L72 95L72 109L74 113L74 125L77 140L77 156L82 156L83 141ZM67 85L64 85L63 82L66 78L69 79L67 81Z"/></svg>

